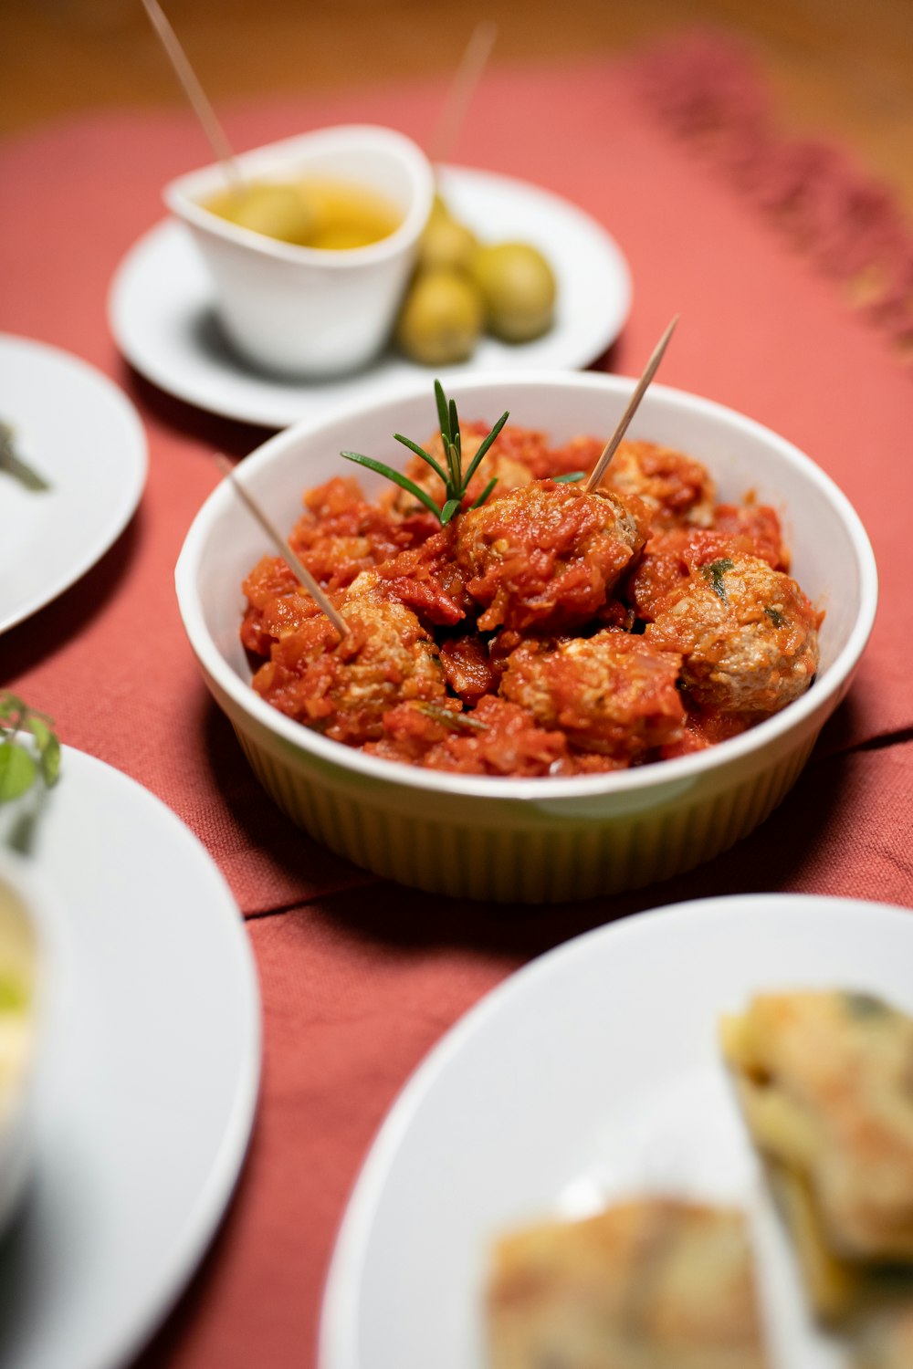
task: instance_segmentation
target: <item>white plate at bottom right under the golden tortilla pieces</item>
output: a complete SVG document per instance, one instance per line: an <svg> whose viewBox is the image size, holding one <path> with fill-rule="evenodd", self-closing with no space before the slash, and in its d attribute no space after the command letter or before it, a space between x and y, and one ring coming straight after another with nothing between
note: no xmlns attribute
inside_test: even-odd
<svg viewBox="0 0 913 1369"><path fill-rule="evenodd" d="M407 1084L337 1240L320 1369L483 1369L493 1236L621 1195L751 1217L776 1369L838 1369L805 1312L738 1114L717 1021L767 988L839 986L913 1012L913 912L745 895L642 913L489 994Z"/></svg>

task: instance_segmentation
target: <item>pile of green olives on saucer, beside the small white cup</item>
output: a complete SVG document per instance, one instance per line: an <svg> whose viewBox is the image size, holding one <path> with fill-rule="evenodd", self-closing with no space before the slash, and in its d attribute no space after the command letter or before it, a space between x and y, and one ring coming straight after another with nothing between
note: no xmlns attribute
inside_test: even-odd
<svg viewBox="0 0 913 1369"><path fill-rule="evenodd" d="M528 242L482 244L439 196L419 244L396 342L422 366L467 361L482 333L530 342L552 327L552 267Z"/></svg>

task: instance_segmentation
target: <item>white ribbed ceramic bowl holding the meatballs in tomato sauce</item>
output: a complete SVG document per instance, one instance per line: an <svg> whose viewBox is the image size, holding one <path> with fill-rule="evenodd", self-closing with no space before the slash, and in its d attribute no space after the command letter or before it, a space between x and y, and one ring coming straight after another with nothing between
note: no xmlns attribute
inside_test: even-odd
<svg viewBox="0 0 913 1369"><path fill-rule="evenodd" d="M489 375L454 383L463 419L511 420L553 442L612 431L634 382L593 374ZM252 453L240 478L282 528L303 489L352 475L342 449L402 464L390 437L435 430L431 386L301 423ZM333 850L379 875L490 899L584 898L689 869L762 821L795 782L843 698L877 598L872 548L846 497L768 428L708 400L647 392L628 433L705 461L721 500L754 490L782 515L793 571L827 616L806 694L716 747L638 769L574 779L496 779L423 771L319 737L249 686L238 639L241 582L270 550L227 482L193 522L177 567L183 624L207 683L277 804ZM359 472L360 475L368 472ZM368 489L376 487L367 479ZM378 478L376 483L382 483Z"/></svg>

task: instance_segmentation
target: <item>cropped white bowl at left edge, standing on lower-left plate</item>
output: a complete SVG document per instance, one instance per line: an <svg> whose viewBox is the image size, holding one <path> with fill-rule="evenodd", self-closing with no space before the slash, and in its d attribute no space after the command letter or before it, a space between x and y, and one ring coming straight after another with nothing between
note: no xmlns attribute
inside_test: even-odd
<svg viewBox="0 0 913 1369"><path fill-rule="evenodd" d="M29 862L0 849L0 1231L15 1214L36 1158L34 1108L59 982L60 912ZM25 1001L11 1009L11 987Z"/></svg>

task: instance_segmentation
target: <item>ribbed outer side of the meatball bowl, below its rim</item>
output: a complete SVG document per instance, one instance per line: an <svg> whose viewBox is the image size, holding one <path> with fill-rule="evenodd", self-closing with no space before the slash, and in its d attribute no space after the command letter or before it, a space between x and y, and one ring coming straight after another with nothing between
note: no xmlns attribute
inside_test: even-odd
<svg viewBox="0 0 913 1369"><path fill-rule="evenodd" d="M235 730L279 808L339 856L433 894L523 904L617 894L710 860L786 797L817 735L710 791L706 783L683 793L673 787L642 812L612 812L606 804L601 817L594 801L586 812L575 815L568 805L563 815L557 805L543 810L493 798L483 801L483 820L479 802L438 804L427 795L419 805L397 802L390 789L361 789L350 778L329 783L326 773L308 778L300 764Z"/></svg>

